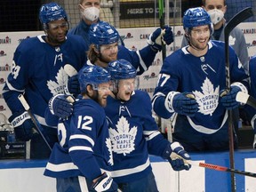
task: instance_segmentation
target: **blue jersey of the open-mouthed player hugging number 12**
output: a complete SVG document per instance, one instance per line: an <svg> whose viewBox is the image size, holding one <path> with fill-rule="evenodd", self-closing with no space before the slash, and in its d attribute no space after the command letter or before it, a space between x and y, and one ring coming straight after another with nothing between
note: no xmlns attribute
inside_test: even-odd
<svg viewBox="0 0 256 192"><path fill-rule="evenodd" d="M148 154L163 156L170 145L158 132L147 92L135 91L129 101L108 96L105 108L117 183L138 180L151 171Z"/></svg>

